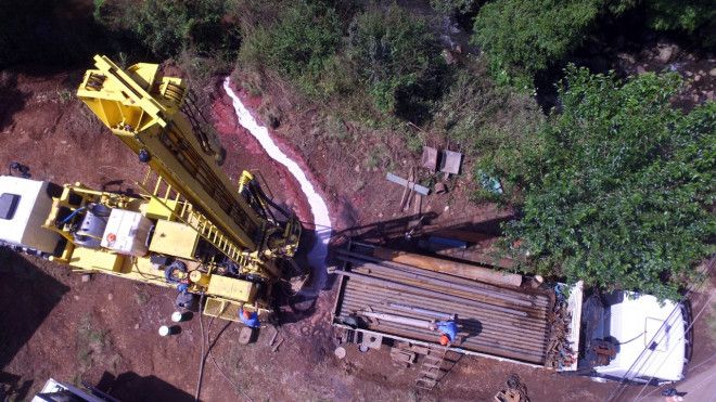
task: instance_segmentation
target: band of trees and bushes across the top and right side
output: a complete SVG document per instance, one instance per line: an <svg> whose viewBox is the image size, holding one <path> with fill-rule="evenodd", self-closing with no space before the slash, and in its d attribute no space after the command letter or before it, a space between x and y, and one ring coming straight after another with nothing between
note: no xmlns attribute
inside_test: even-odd
<svg viewBox="0 0 716 402"><path fill-rule="evenodd" d="M285 96L265 107L269 125L280 127L289 108L310 111L314 126L295 134L305 155L355 153L358 173L401 166L396 150L449 142L466 156L473 198L516 210L506 233L509 244L520 241L515 251L529 251L526 271L666 297L712 250L714 102L687 113L672 105L675 75L622 82L575 67L550 116L532 96L536 76L602 40L609 24L637 17L639 28L712 49L711 1L431 0L435 21L396 3L325 0L94 0L88 21L57 21L54 3L0 8L11 22L0 25L0 65L85 66L94 52L123 66L168 60L202 108L217 75L238 66L251 93ZM484 53L443 56L443 14L474 15L472 41ZM15 81L1 83L10 91ZM57 90L57 100L71 93ZM496 178L502 195L481 186ZM88 346L80 361L102 349L91 326L79 338Z"/></svg>

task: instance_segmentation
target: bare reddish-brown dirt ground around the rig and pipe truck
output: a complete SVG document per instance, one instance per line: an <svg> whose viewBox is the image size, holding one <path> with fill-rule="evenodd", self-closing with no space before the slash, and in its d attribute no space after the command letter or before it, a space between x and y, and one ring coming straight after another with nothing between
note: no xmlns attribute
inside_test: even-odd
<svg viewBox="0 0 716 402"><path fill-rule="evenodd" d="M57 183L81 181L100 187L113 180L132 186L143 173L137 157L113 138L72 95L79 73L35 77L3 73L11 82L0 93L0 165L16 160L30 166L33 177ZM241 128L226 96L217 91L214 114L228 151L227 173L260 169L281 203L308 219L306 202L295 183ZM276 101L247 100L260 109ZM303 157L330 205L338 235L368 231L381 239L400 234L412 212L399 212L401 191L385 181L386 171L406 176L417 157L397 148L393 164L368 164L368 142L321 140L315 116L298 111L276 130L289 153ZM346 127L346 130L353 128ZM306 135L319 145L304 143ZM434 212L435 224L494 230L509 211L468 202L462 179L445 196L424 199L422 212ZM354 230L355 228L362 228ZM301 261L301 259L299 259ZM567 378L541 368L463 358L431 393L414 391L418 368L396 367L387 348L360 353L349 348L344 360L333 355L330 312L334 291L325 289L305 314L287 315L277 339L263 328L258 341L240 346L239 325L199 316L181 325L181 334L161 338L169 322L175 291L95 275L84 283L66 267L0 251L0 382L17 399L28 398L54 377L86 380L108 388L126 401L193 400L201 358L202 333L208 333L212 356L205 363L202 400L490 400L510 373L517 373L533 401L601 401L613 385ZM204 329L202 330L201 324ZM706 330L706 329L702 329ZM704 333L705 334L705 333ZM709 347L700 355L713 355ZM705 358L704 358L705 359ZM114 380L113 380L114 378ZM240 389L236 388L240 387Z"/></svg>

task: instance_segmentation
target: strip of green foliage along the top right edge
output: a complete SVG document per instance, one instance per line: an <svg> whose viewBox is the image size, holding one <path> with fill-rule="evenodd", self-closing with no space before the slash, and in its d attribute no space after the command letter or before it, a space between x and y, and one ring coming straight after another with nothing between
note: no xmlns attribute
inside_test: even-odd
<svg viewBox="0 0 716 402"><path fill-rule="evenodd" d="M530 89L535 74L563 63L602 29L602 20L627 12L644 14L653 29L679 31L704 47L716 43L716 7L707 0L493 0L480 8L472 41L487 53L498 82Z"/></svg>

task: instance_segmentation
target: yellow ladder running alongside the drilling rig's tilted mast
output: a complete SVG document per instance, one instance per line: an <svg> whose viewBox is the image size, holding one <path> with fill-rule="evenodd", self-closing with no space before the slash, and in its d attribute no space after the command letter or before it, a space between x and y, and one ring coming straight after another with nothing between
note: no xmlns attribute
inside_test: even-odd
<svg viewBox="0 0 716 402"><path fill-rule="evenodd" d="M220 250L240 268L246 267L250 262L247 252L228 238L219 228L196 210L189 200L172 189L171 184L162 179L161 176L156 176L154 189L152 191L148 190L150 173L151 171L146 172L144 183L138 183L146 196L163 205L171 213L172 218L192 228L205 241Z"/></svg>

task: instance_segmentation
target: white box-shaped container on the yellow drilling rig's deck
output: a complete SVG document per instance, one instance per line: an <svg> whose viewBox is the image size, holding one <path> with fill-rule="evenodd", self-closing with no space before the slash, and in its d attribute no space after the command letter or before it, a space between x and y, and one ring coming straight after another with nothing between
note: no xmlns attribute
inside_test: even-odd
<svg viewBox="0 0 716 402"><path fill-rule="evenodd" d="M143 215L115 208L102 236L102 247L118 254L142 257L149 251L146 238L152 221Z"/></svg>

